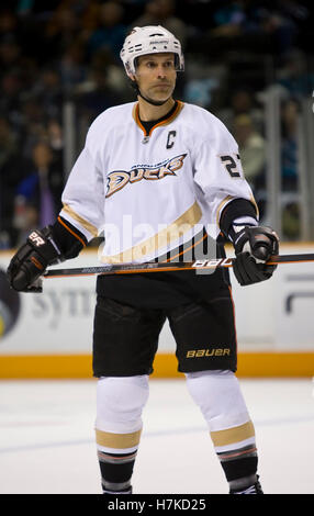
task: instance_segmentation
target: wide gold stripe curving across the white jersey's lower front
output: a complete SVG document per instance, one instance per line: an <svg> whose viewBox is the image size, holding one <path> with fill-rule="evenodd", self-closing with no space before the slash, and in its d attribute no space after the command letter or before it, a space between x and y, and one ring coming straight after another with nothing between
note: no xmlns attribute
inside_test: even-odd
<svg viewBox="0 0 314 516"><path fill-rule="evenodd" d="M165 229L119 255L103 256L101 261L105 263L128 263L141 260L147 255L158 256L158 249L162 249L169 246L171 242L178 240L182 235L192 229L201 218L202 211L199 204L194 202L189 210L168 227L165 227Z"/></svg>

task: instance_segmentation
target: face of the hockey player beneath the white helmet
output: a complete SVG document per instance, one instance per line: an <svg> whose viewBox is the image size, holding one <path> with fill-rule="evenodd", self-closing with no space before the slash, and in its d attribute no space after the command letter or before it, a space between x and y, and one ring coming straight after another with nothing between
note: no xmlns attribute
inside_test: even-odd
<svg viewBox="0 0 314 516"><path fill-rule="evenodd" d="M135 79L141 92L155 101L168 100L176 86L175 55L149 54L138 58Z"/></svg>

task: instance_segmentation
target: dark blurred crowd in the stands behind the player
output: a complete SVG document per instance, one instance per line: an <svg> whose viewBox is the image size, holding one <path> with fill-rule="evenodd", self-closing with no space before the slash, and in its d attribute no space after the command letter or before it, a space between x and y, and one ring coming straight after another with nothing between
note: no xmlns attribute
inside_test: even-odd
<svg viewBox="0 0 314 516"><path fill-rule="evenodd" d="M267 222L266 94L280 111L281 238L300 240L298 120L313 97L313 13L294 0L1 0L0 249L60 209L88 126L134 101L119 57L133 26L161 24L182 43L176 98L218 116L238 142ZM314 99L313 99L314 101ZM313 115L313 112L312 112Z"/></svg>

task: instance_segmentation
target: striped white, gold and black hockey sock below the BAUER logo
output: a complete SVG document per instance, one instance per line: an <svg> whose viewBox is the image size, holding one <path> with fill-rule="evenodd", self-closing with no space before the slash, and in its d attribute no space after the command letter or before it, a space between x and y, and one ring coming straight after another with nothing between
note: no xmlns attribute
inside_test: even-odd
<svg viewBox="0 0 314 516"><path fill-rule="evenodd" d="M210 429L231 491L253 485L257 471L255 428L232 371L187 373L189 392Z"/></svg>

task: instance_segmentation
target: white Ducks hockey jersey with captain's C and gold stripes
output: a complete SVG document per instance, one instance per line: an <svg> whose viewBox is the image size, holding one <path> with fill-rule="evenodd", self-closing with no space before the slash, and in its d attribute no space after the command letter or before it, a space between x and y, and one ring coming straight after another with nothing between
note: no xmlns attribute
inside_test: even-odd
<svg viewBox="0 0 314 516"><path fill-rule="evenodd" d="M60 215L88 240L104 234L101 261L148 261L206 228L234 199L254 201L238 147L206 110L178 102L146 135L138 103L91 124L63 193Z"/></svg>

